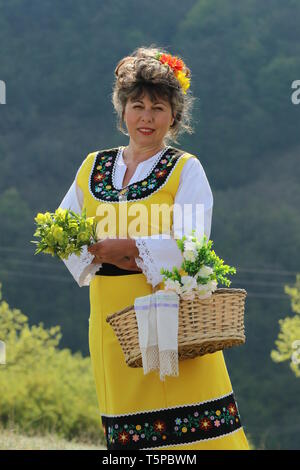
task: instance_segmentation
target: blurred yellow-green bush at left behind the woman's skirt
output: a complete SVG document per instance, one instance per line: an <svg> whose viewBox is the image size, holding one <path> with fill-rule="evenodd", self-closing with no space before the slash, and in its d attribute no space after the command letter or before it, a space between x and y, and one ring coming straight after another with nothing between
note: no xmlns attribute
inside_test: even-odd
<svg viewBox="0 0 300 470"><path fill-rule="evenodd" d="M59 349L60 326L29 326L28 317L2 300L0 338L6 360L0 369L0 421L28 435L55 432L104 444L89 357Z"/></svg>

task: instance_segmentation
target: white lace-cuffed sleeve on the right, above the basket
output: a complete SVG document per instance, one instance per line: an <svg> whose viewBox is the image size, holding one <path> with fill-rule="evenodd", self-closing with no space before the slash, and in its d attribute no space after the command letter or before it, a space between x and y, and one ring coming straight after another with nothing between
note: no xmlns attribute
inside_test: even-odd
<svg viewBox="0 0 300 470"><path fill-rule="evenodd" d="M148 283L155 287L163 281L161 268L180 269L183 255L175 238L190 235L192 229L199 238L203 234L210 238L212 211L213 194L205 171L197 158L190 158L182 169L174 199L173 238L134 237L139 250L135 261Z"/></svg>

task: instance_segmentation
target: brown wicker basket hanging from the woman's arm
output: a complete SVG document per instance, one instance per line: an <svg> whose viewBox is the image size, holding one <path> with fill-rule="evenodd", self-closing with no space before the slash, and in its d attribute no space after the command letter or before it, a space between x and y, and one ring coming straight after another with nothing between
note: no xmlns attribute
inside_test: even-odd
<svg viewBox="0 0 300 470"><path fill-rule="evenodd" d="M154 289L155 291L156 289ZM245 289L216 289L208 299L179 299L178 359L214 353L245 343ZM106 318L129 367L142 367L134 305Z"/></svg>

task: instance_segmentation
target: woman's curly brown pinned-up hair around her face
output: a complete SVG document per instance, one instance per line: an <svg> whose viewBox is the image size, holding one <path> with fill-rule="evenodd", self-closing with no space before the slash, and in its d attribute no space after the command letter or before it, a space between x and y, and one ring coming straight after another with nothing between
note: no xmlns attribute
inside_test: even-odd
<svg viewBox="0 0 300 470"><path fill-rule="evenodd" d="M119 61L115 68L115 82L112 103L118 116L118 129L125 135L123 128L124 111L127 100L140 98L147 93L152 102L162 98L169 101L174 123L165 135L164 144L170 141L179 143L177 136L184 132L194 132L190 125L191 109L194 97L184 93L173 70L155 59L157 53L169 54L161 47L151 44L149 47L138 47L130 56ZM187 76L191 75L186 67Z"/></svg>

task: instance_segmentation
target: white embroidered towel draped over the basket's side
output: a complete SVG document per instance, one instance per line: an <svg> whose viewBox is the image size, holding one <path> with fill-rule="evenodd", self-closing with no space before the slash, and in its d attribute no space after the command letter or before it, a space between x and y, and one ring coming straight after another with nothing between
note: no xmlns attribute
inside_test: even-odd
<svg viewBox="0 0 300 470"><path fill-rule="evenodd" d="M165 375L178 376L178 294L159 290L137 297L134 310L144 374L157 369L163 381Z"/></svg>

